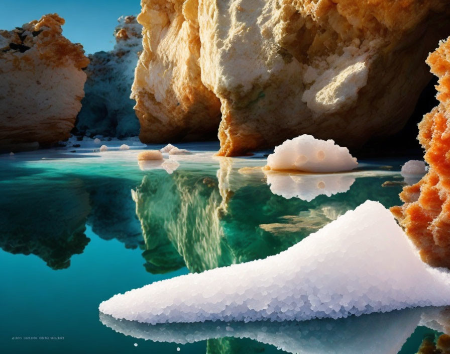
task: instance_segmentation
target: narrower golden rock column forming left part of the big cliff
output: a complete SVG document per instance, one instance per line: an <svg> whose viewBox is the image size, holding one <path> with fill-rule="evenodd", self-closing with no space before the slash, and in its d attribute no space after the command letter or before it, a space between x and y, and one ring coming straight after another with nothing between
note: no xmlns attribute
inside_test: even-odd
<svg viewBox="0 0 450 354"><path fill-rule="evenodd" d="M144 49L132 97L145 143L212 139L220 101L201 79L198 2L143 0Z"/></svg>

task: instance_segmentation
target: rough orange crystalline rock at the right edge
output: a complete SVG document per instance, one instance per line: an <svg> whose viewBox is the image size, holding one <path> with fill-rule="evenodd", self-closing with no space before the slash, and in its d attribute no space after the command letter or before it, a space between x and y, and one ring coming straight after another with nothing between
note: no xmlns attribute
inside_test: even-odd
<svg viewBox="0 0 450 354"><path fill-rule="evenodd" d="M400 194L405 204L391 208L406 233L434 267L450 268L450 37L428 56L437 77L440 104L419 124L420 144L430 168Z"/></svg>

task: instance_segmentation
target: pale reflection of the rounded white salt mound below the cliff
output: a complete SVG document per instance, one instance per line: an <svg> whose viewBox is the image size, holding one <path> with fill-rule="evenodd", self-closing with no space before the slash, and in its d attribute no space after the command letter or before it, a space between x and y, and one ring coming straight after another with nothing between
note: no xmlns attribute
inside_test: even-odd
<svg viewBox="0 0 450 354"><path fill-rule="evenodd" d="M269 171L267 184L277 196L286 199L299 198L310 202L320 195L331 197L337 193L345 193L355 183L352 175L340 174L290 174Z"/></svg>

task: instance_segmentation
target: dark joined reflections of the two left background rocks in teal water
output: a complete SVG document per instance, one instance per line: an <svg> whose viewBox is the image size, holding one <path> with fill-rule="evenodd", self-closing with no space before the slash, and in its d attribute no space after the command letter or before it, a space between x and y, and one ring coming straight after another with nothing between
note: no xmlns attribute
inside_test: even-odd
<svg viewBox="0 0 450 354"><path fill-rule="evenodd" d="M61 175L44 169L5 165L0 175L0 247L35 254L54 269L66 269L90 239L86 225L101 238L116 238L128 248L142 243L130 190L120 178Z"/></svg>

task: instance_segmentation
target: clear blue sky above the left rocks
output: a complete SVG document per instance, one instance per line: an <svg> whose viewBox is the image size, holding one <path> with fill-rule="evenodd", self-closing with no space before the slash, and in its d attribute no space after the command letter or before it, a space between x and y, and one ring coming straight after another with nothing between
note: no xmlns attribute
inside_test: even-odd
<svg viewBox="0 0 450 354"><path fill-rule="evenodd" d="M0 29L12 30L42 15L58 13L66 20L63 35L81 43L86 53L110 50L122 15L137 15L140 0L0 0Z"/></svg>

